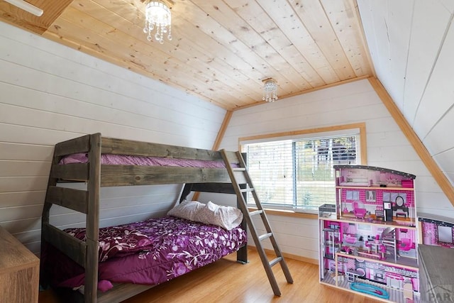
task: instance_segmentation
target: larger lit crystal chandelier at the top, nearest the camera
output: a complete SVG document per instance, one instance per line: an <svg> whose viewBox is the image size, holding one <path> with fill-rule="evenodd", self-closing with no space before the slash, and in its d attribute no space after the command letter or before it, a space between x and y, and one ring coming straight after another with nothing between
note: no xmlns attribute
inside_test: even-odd
<svg viewBox="0 0 454 303"><path fill-rule="evenodd" d="M164 35L172 40L172 17L170 9L162 1L150 1L145 6L145 27L143 32L148 34L147 40L153 40L152 32L156 29L155 40L164 43Z"/></svg>

